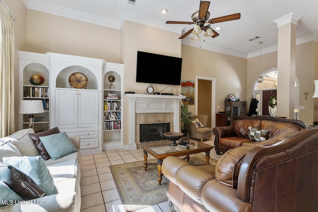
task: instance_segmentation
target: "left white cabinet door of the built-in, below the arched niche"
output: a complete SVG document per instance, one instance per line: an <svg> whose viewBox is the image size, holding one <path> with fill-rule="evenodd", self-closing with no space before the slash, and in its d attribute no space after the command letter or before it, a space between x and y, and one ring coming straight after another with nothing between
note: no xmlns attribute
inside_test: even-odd
<svg viewBox="0 0 318 212"><path fill-rule="evenodd" d="M55 124L61 128L78 126L78 91L55 91Z"/></svg>

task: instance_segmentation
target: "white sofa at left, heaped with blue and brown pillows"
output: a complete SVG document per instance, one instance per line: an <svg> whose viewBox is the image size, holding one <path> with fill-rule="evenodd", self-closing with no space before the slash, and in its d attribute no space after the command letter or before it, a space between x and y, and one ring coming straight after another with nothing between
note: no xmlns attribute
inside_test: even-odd
<svg viewBox="0 0 318 212"><path fill-rule="evenodd" d="M24 129L0 139L0 161L8 156L40 155L28 134L33 129ZM33 199L19 204L0 207L0 212L79 212L80 211L80 139L71 137L78 148L56 160L48 159L45 163L53 177L58 194ZM1 145L9 141L13 145ZM11 146L11 149L8 149ZM16 147L16 148L15 148ZM18 149L18 150L16 150Z"/></svg>

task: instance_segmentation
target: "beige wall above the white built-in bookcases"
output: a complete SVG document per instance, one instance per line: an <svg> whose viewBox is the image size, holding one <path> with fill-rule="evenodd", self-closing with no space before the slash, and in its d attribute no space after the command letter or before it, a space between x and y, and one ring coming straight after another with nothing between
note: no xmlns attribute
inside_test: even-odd
<svg viewBox="0 0 318 212"><path fill-rule="evenodd" d="M28 9L26 51L120 63L120 30Z"/></svg>

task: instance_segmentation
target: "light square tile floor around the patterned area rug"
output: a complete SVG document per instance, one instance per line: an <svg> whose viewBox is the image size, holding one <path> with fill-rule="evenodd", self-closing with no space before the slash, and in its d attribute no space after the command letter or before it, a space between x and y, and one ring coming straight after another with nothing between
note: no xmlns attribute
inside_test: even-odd
<svg viewBox="0 0 318 212"><path fill-rule="evenodd" d="M205 143L214 145L214 138ZM212 149L210 156L219 159ZM150 159L154 157L148 155ZM81 212L124 212L109 166L143 161L143 149L105 150L98 154L82 155L81 164ZM136 212L169 212L168 202L150 206Z"/></svg>

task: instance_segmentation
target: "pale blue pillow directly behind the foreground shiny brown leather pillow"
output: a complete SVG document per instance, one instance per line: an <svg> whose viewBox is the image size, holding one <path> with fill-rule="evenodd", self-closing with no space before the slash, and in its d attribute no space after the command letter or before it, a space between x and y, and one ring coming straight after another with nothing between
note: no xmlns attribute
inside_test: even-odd
<svg viewBox="0 0 318 212"><path fill-rule="evenodd" d="M5 163L17 167L40 186L46 195L57 194L53 178L41 156L36 157L3 157Z"/></svg>

